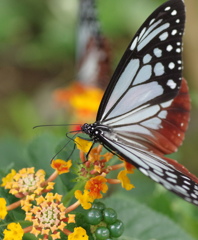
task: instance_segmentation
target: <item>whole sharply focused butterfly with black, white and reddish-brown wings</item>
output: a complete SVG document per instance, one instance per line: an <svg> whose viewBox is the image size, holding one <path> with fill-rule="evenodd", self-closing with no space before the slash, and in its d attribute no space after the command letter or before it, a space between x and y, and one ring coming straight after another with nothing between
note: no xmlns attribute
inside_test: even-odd
<svg viewBox="0 0 198 240"><path fill-rule="evenodd" d="M186 201L198 205L198 178L164 157L182 144L190 99L182 76L185 6L157 8L127 47L100 104L82 132Z"/></svg>

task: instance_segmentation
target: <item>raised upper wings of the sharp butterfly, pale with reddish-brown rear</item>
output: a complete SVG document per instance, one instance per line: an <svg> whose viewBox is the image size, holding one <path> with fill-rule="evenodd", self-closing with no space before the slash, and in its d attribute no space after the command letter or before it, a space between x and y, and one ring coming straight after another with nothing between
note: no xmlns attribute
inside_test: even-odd
<svg viewBox="0 0 198 240"><path fill-rule="evenodd" d="M170 0L148 17L124 53L97 115L122 138L161 154L177 150L188 125L189 96L181 77L184 24L182 0ZM181 83L185 99L174 101Z"/></svg>

